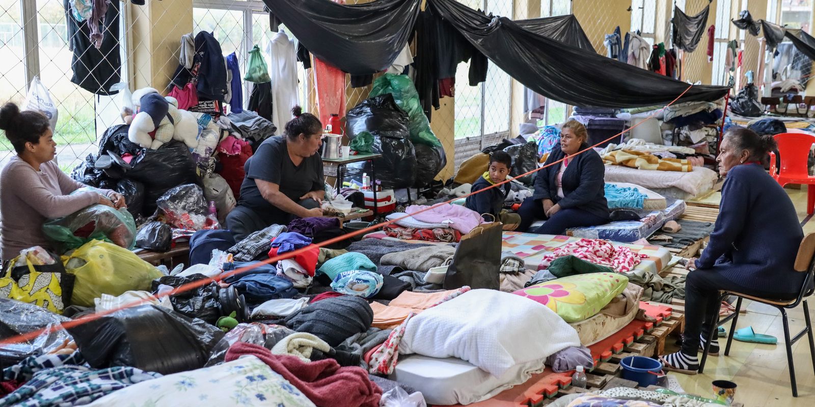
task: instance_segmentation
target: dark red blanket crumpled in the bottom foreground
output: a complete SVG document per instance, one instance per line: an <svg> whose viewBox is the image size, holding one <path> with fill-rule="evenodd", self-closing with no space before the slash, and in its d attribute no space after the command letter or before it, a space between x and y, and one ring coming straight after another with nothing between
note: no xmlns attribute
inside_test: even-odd
<svg viewBox="0 0 815 407"><path fill-rule="evenodd" d="M244 355L258 357L317 407L379 407L382 389L361 367L340 367L333 359L304 362L291 355L273 355L267 348L243 342L227 350L226 361Z"/></svg>

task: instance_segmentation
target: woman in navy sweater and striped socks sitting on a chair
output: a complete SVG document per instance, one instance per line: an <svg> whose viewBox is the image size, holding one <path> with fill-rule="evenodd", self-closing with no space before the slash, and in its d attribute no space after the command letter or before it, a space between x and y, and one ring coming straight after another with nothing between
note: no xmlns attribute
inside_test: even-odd
<svg viewBox="0 0 815 407"><path fill-rule="evenodd" d="M719 317L719 291L738 291L773 299L795 298L804 273L793 269L804 231L784 189L764 171L776 149L772 136L750 129L729 130L722 141L719 173L726 176L710 243L698 260L689 260L685 285L682 348L662 357L666 369L696 374L698 351ZM717 341L710 354L719 353Z"/></svg>

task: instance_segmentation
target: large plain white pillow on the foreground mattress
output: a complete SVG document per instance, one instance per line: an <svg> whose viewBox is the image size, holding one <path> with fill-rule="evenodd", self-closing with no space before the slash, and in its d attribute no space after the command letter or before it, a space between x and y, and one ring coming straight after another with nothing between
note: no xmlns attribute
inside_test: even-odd
<svg viewBox="0 0 815 407"><path fill-rule="evenodd" d="M496 377L525 364L543 369L549 355L580 346L577 331L551 309L518 295L471 290L412 317L399 353L458 357Z"/></svg>

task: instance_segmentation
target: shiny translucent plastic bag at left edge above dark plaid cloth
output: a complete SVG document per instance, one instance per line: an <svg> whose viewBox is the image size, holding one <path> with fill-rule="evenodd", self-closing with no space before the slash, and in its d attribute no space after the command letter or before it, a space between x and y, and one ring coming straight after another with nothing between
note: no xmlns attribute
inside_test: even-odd
<svg viewBox="0 0 815 407"><path fill-rule="evenodd" d="M66 321L69 319L36 304L0 299L0 339L46 328L34 339L0 346L0 365L15 365L26 357L51 352L65 340L71 340L68 331L59 326Z"/></svg>

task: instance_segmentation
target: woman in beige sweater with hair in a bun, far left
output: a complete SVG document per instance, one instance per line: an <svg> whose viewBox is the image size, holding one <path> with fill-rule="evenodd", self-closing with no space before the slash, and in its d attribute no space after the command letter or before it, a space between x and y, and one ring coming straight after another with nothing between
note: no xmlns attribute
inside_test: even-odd
<svg viewBox="0 0 815 407"><path fill-rule="evenodd" d="M0 108L0 129L17 155L0 172L0 246L2 261L33 246L50 248L42 234L48 219L65 217L93 204L125 206L125 198L112 190L69 195L83 187L54 163L56 143L48 119L41 112L23 111L14 103Z"/></svg>

